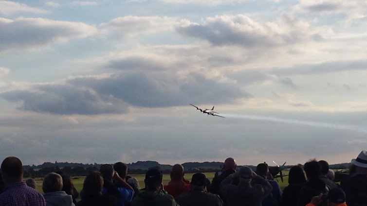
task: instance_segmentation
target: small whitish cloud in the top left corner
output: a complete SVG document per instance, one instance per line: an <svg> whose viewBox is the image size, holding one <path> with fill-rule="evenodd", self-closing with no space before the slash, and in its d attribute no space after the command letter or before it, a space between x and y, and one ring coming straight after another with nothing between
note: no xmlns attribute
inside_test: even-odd
<svg viewBox="0 0 367 206"><path fill-rule="evenodd" d="M24 3L18 3L8 0L0 0L0 14L7 16L18 12L29 12L36 14L47 13L47 11L45 10L30 7Z"/></svg>

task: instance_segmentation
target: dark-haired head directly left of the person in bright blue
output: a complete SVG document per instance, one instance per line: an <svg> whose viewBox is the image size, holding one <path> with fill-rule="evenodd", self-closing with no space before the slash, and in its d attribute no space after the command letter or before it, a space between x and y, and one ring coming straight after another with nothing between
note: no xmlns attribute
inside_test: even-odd
<svg viewBox="0 0 367 206"><path fill-rule="evenodd" d="M86 197L101 196L103 176L100 172L90 172L84 179L83 191Z"/></svg>

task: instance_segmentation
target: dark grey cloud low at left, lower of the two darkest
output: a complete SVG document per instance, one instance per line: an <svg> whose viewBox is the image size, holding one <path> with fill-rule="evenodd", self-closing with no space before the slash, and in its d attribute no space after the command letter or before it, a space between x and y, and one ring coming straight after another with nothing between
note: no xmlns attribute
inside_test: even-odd
<svg viewBox="0 0 367 206"><path fill-rule="evenodd" d="M101 98L90 89L68 85L43 85L34 89L3 92L0 96L11 102L23 102L21 109L40 113L94 115L127 111L121 101Z"/></svg>

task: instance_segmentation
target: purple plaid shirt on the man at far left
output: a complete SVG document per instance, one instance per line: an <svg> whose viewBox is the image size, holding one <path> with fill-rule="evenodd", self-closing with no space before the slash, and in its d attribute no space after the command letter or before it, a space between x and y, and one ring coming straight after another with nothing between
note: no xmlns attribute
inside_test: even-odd
<svg viewBox="0 0 367 206"><path fill-rule="evenodd" d="M7 185L0 194L0 206L46 206L45 198L25 182Z"/></svg>

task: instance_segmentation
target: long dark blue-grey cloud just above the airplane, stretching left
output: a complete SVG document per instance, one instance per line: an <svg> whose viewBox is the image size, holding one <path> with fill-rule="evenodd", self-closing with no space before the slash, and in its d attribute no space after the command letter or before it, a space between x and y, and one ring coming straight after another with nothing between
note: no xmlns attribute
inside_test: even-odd
<svg viewBox="0 0 367 206"><path fill-rule="evenodd" d="M76 78L69 82L92 87L98 93L142 107L178 106L188 102L229 103L237 98L251 97L236 85L218 83L192 73L183 79L175 75L136 73L115 74L105 79Z"/></svg>

